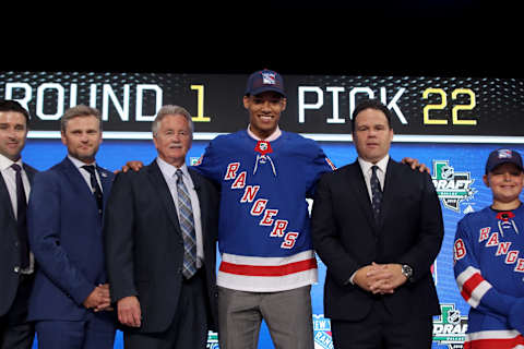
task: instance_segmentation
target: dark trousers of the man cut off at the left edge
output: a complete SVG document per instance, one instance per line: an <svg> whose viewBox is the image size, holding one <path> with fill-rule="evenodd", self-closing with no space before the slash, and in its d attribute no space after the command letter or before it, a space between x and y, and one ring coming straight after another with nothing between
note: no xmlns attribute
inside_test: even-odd
<svg viewBox="0 0 524 349"><path fill-rule="evenodd" d="M20 285L9 312L0 317L0 349L31 349L35 324L27 322L27 303L34 275L20 275Z"/></svg>

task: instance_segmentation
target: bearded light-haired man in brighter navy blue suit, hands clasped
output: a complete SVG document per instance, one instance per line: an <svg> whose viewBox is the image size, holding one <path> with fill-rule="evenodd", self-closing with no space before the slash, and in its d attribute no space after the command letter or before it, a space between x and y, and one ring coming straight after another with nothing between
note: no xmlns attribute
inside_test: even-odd
<svg viewBox="0 0 524 349"><path fill-rule="evenodd" d="M114 174L97 166L98 110L70 108L61 118L68 156L35 176L29 243L39 268L29 300L39 348L112 348L116 322L105 272L103 213Z"/></svg>

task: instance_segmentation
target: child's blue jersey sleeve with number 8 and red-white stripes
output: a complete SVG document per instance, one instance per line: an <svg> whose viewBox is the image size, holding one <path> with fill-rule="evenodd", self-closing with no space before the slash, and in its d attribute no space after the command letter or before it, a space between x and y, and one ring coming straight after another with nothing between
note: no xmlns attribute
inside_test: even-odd
<svg viewBox="0 0 524 349"><path fill-rule="evenodd" d="M475 231L463 218L456 228L453 245L453 270L462 297L477 311L507 318L521 334L524 329L524 300L501 292L483 276L475 250ZM516 312L515 308L520 311ZM523 318L520 318L523 317Z"/></svg>

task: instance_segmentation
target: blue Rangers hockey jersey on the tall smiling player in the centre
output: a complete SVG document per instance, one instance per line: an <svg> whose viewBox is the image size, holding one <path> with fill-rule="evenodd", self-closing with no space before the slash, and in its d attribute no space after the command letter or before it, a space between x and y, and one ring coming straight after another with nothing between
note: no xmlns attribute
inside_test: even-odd
<svg viewBox="0 0 524 349"><path fill-rule="evenodd" d="M317 281L306 198L333 166L315 142L243 130L210 142L195 169L221 185L218 286L270 292Z"/></svg>

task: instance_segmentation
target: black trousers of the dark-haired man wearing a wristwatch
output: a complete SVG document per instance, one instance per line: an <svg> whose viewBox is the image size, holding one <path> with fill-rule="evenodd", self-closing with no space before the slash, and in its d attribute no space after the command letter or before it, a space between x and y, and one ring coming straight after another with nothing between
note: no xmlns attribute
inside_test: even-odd
<svg viewBox="0 0 524 349"><path fill-rule="evenodd" d="M365 320L331 321L336 349L430 349L432 328L431 315L395 318L382 301Z"/></svg>

